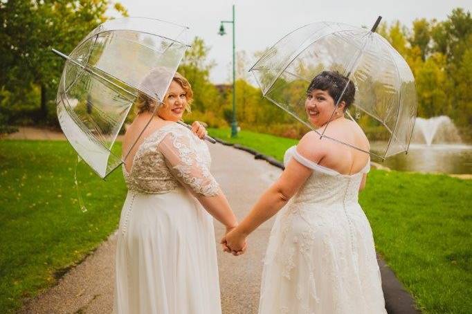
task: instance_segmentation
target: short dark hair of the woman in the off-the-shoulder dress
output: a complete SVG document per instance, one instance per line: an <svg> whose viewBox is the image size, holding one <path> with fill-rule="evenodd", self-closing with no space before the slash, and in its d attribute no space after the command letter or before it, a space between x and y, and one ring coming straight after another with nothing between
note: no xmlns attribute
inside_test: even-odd
<svg viewBox="0 0 472 314"><path fill-rule="evenodd" d="M348 83L349 82L349 83ZM338 100L343 93L343 89L347 84L347 88L343 94L343 97L339 102L344 101L345 107L350 107L354 102L354 95L356 94L356 88L354 83L347 77L339 73L338 71L323 71L316 75L308 86L307 93L311 93L314 89L320 89L321 91L327 91L328 94L334 99L334 102Z"/></svg>

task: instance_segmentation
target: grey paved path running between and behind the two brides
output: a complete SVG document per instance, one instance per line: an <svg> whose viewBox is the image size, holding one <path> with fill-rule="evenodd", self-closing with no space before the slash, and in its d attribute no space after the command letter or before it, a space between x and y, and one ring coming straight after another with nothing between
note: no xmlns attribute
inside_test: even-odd
<svg viewBox="0 0 472 314"><path fill-rule="evenodd" d="M24 131L25 138L30 136L29 139L32 139L31 132L35 133L34 129ZM48 134L48 138L59 136ZM245 151L220 144L209 146L213 160L212 174L226 192L238 219L241 219L281 171L264 160L255 160ZM272 223L273 219L251 234L245 255L233 257L219 249L217 243L224 234L224 228L215 222L215 246L224 314L257 313L262 258ZM92 255L64 275L56 286L30 300L19 313L110 313L113 305L115 246L116 236L112 234ZM387 303L397 308L390 309L389 313L415 313L406 299L408 295L394 282L394 275L388 273L388 268L381 267L381 270Z"/></svg>

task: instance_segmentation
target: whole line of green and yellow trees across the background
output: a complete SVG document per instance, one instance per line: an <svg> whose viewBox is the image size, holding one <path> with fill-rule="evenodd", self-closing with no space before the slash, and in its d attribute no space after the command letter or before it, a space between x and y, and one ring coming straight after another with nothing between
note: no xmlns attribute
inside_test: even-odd
<svg viewBox="0 0 472 314"><path fill-rule="evenodd" d="M70 52L89 31L109 18L108 8L127 15L118 2L0 1L0 133L9 125L35 124L57 127L55 97L64 61L51 48ZM416 19L410 27L399 21L378 28L406 59L415 76L418 116L450 116L470 138L472 124L472 17L454 9L444 21ZM188 120L202 120L210 127L228 127L233 91L215 85L208 57L210 46L196 37L179 71L194 89ZM261 55L256 53L255 57ZM248 80L248 55L237 53L237 120L251 129L296 138L306 128L262 98Z"/></svg>

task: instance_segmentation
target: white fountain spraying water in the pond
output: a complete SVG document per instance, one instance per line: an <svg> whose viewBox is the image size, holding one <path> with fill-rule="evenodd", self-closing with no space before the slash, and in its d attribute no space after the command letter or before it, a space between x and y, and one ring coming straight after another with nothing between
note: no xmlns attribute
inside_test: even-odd
<svg viewBox="0 0 472 314"><path fill-rule="evenodd" d="M460 144L462 140L454 122L448 116L438 116L429 119L417 118L412 142L433 144Z"/></svg>

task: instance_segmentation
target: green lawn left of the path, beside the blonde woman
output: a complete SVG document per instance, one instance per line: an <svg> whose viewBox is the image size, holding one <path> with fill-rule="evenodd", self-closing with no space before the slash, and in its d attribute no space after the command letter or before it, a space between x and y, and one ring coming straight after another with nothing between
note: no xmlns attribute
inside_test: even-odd
<svg viewBox="0 0 472 314"><path fill-rule="evenodd" d="M64 141L0 141L0 313L55 283L118 225L126 187L120 171L102 181Z"/></svg>

